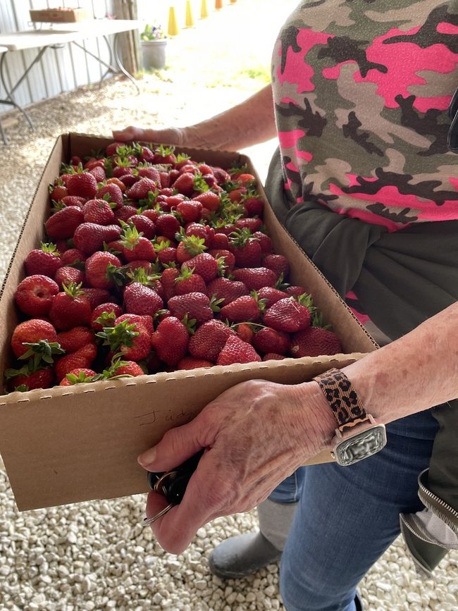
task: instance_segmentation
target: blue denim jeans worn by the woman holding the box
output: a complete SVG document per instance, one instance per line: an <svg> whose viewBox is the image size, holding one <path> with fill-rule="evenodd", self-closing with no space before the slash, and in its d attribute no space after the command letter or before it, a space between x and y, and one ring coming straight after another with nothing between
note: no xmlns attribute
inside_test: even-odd
<svg viewBox="0 0 458 611"><path fill-rule="evenodd" d="M354 611L357 584L400 533L399 514L423 508L417 476L438 424L421 412L387 426L388 444L352 467L300 467L273 490L299 500L280 564L287 611Z"/></svg>

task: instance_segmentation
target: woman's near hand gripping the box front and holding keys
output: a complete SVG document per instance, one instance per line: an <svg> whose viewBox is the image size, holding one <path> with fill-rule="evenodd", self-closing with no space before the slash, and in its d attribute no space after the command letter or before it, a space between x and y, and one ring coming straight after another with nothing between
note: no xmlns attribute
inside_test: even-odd
<svg viewBox="0 0 458 611"><path fill-rule="evenodd" d="M165 550L178 554L208 521L256 507L325 447L335 421L316 388L243 382L139 457L148 471L167 471L206 448L180 505L151 525ZM166 504L163 496L149 493L147 516Z"/></svg>

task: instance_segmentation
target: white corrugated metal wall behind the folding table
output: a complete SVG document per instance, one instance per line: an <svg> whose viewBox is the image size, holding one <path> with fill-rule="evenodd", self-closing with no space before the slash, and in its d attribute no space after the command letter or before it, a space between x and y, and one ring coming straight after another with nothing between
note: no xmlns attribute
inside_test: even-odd
<svg viewBox="0 0 458 611"><path fill-rule="evenodd" d="M94 13L96 18L104 17L106 13L113 13L111 0L0 0L0 32L3 34L30 30L33 25L30 22L29 9L45 6L51 8L80 6L89 14ZM45 24L44 27L48 26ZM109 51L104 39L86 40L82 44L104 61L109 61ZM5 70L8 87L18 81L25 67L33 61L36 54L37 49L8 52ZM73 90L80 85L97 82L104 74L104 70L97 60L73 44L66 44L61 49L47 49L41 61L30 70L27 79L18 87L14 97L18 104L26 106L34 101ZM2 97L5 97L5 92L0 84L0 99ZM11 108L12 106L0 104L0 113Z"/></svg>

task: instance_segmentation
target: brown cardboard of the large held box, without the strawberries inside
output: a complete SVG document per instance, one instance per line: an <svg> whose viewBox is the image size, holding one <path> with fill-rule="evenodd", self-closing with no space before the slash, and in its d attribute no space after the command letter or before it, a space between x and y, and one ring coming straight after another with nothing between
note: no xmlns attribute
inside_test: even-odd
<svg viewBox="0 0 458 611"><path fill-rule="evenodd" d="M72 155L87 156L109 142L74 133L56 141L0 294L1 372L9 365L11 335L19 321L13 295L24 278L23 261L42 240L43 223L49 216L47 187L58 175L61 161L68 162ZM246 156L183 151L197 161L226 168L247 163L259 180ZM290 261L292 281L309 288L326 322L338 333L345 354L215 366L9 395L2 395L5 391L0 388L0 452L19 510L146 492L147 477L137 464L137 455L157 443L169 428L190 421L223 390L252 378L286 384L308 381L376 348L338 294L276 221L267 202L264 220L276 252ZM329 459L326 452L310 462Z"/></svg>

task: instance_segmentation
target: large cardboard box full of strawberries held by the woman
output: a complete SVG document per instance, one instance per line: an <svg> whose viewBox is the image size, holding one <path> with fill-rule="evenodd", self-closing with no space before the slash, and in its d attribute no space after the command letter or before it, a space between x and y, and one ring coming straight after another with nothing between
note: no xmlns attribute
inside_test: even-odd
<svg viewBox="0 0 458 611"><path fill-rule="evenodd" d="M19 510L146 492L137 455L223 390L376 348L232 152L62 135L0 297Z"/></svg>

